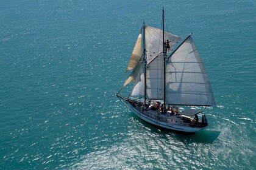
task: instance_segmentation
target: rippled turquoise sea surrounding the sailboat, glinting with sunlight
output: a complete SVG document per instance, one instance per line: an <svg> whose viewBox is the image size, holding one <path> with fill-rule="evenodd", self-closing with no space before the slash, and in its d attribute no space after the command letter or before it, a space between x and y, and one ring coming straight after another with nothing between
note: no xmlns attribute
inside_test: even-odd
<svg viewBox="0 0 256 170"><path fill-rule="evenodd" d="M209 126L152 126L116 98L143 21L191 32ZM256 169L256 1L0 1L0 169Z"/></svg>

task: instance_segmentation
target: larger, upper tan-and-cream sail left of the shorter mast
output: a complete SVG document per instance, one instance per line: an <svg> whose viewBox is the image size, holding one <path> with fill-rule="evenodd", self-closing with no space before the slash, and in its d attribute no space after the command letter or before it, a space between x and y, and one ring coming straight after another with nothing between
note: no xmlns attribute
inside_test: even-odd
<svg viewBox="0 0 256 170"><path fill-rule="evenodd" d="M133 48L132 55L130 56L130 60L127 66L126 71L132 70L141 59L141 32L137 38L136 44Z"/></svg>

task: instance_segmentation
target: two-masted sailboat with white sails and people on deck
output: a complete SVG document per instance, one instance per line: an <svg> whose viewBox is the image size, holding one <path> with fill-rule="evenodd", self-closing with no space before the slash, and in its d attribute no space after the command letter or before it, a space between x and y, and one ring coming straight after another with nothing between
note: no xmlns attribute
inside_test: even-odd
<svg viewBox="0 0 256 170"><path fill-rule="evenodd" d="M131 73L116 95L148 123L199 132L208 126L200 108L216 105L210 81L192 34L181 42L179 36L165 32L164 14L163 10L162 29L143 24L127 66ZM122 96L131 83L130 94Z"/></svg>

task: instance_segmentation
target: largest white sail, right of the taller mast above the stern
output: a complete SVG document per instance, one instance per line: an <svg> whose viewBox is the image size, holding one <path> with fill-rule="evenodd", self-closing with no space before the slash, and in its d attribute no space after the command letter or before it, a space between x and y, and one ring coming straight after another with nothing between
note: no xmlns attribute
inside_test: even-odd
<svg viewBox="0 0 256 170"><path fill-rule="evenodd" d="M166 103L214 106L204 63L189 36L166 63Z"/></svg>

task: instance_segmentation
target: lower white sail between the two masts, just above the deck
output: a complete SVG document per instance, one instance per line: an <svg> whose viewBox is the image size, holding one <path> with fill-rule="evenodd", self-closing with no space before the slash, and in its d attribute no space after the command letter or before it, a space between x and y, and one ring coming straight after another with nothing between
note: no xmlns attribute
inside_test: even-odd
<svg viewBox="0 0 256 170"><path fill-rule="evenodd" d="M163 99L163 54L157 56L146 69L148 99Z"/></svg>

